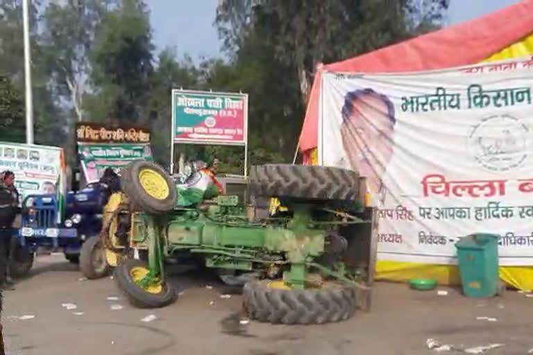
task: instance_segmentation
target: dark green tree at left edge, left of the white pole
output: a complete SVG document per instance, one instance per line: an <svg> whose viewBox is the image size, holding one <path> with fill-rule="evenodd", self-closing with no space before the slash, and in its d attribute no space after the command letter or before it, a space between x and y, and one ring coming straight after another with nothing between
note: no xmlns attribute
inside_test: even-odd
<svg viewBox="0 0 533 355"><path fill-rule="evenodd" d="M7 76L0 76L0 141L24 143L24 98Z"/></svg>

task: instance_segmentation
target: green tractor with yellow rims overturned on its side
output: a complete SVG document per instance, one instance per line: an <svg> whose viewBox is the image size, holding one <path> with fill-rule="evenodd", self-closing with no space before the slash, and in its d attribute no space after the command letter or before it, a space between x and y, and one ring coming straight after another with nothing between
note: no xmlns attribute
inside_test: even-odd
<svg viewBox="0 0 533 355"><path fill-rule="evenodd" d="M364 179L323 166L267 164L251 168L256 200L279 198L288 211L271 216L239 196L176 205L183 185L157 164L121 171L122 192L110 198L102 230L115 281L139 307L176 300L167 263L200 261L228 284L244 284L244 308L262 322L321 324L350 318L359 283L342 261L342 226L369 223ZM267 207L268 209L268 207Z"/></svg>

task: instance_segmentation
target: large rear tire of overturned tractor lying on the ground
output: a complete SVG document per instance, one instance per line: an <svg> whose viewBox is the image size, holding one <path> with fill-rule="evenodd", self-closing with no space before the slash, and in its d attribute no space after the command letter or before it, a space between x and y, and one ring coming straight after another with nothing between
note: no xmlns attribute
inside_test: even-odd
<svg viewBox="0 0 533 355"><path fill-rule="evenodd" d="M244 309L260 322L324 324L351 318L357 302L355 287L330 283L324 288L278 288L282 282L253 281L244 285Z"/></svg>

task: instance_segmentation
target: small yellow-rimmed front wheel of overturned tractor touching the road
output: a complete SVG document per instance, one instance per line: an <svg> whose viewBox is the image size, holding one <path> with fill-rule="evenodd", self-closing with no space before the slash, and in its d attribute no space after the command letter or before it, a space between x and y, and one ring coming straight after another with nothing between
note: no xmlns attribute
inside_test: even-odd
<svg viewBox="0 0 533 355"><path fill-rule="evenodd" d="M131 304L139 308L160 308L175 302L176 291L167 282L146 287L140 284L148 273L144 261L125 259L115 268L115 282Z"/></svg>

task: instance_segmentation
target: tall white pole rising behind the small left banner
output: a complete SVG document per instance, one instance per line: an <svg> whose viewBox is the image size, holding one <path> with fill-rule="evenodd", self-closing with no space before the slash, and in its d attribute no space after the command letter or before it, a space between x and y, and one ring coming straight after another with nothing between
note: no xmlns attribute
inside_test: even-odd
<svg viewBox="0 0 533 355"><path fill-rule="evenodd" d="M29 2L22 1L24 21L24 81L26 87L26 143L33 144L33 99L31 96L31 53L30 53L30 19Z"/></svg>

